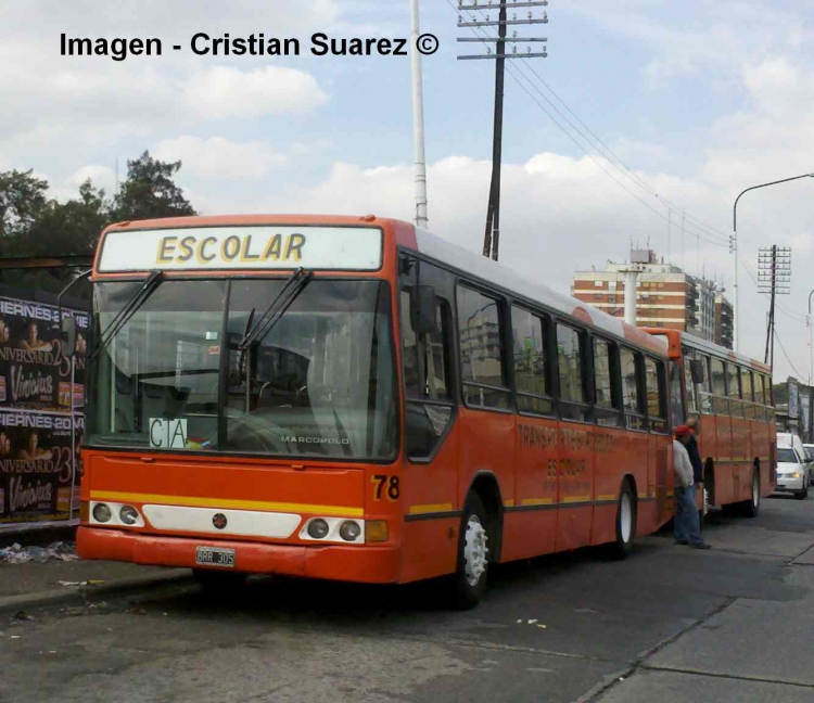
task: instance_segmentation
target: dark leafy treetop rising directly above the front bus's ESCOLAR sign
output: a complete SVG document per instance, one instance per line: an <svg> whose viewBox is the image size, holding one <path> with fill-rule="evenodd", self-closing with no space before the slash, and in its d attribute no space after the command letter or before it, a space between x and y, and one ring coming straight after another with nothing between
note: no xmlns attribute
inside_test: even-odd
<svg viewBox="0 0 814 703"><path fill-rule="evenodd" d="M180 168L181 162L160 162L149 151L128 161L127 180L113 199L111 221L196 215L173 180Z"/></svg>

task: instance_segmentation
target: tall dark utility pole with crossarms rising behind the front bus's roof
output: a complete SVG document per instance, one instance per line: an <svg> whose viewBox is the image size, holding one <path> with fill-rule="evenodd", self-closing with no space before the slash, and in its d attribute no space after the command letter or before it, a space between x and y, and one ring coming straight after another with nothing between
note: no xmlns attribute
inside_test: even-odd
<svg viewBox="0 0 814 703"><path fill-rule="evenodd" d="M533 52L531 46L525 53L518 52L519 42L546 42L545 37L518 37L513 30L511 37L507 37L509 25L533 25L547 24L548 13L544 12L540 17L534 17L531 8L547 7L548 0L458 0L458 27L469 27L478 31L479 27L497 27L497 37L476 36L459 37L459 42L496 42L495 51L486 49L485 54L473 54L458 56L459 61L494 59L495 60L495 117L492 138L492 182L489 184L489 200L486 206L486 231L483 235L483 255L497 260L500 245L500 164L503 161L503 132L504 132L504 82L506 75L506 59L545 59L548 55L546 48L543 51ZM512 16L509 18L508 9L511 8ZM518 9L527 9L525 18L518 18ZM485 12L498 11L497 21L493 21ZM465 20L463 12L471 13L469 20ZM478 14L480 13L480 14ZM513 43L511 53L506 53L506 44Z"/></svg>

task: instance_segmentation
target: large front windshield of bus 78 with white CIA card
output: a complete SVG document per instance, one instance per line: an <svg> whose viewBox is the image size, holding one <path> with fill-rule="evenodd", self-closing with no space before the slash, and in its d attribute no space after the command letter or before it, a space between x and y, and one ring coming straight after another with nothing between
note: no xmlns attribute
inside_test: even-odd
<svg viewBox="0 0 814 703"><path fill-rule="evenodd" d="M394 458L387 285L314 279L258 327L285 283L165 280L91 363L88 445ZM142 285L97 283L99 335Z"/></svg>

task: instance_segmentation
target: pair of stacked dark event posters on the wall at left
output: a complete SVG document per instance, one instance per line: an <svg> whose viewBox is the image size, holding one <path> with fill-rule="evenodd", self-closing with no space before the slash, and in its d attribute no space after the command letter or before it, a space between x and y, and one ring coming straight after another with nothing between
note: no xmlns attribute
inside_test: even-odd
<svg viewBox="0 0 814 703"><path fill-rule="evenodd" d="M0 525L69 520L79 508L89 318L62 314L77 320L73 363L56 306L0 296Z"/></svg>

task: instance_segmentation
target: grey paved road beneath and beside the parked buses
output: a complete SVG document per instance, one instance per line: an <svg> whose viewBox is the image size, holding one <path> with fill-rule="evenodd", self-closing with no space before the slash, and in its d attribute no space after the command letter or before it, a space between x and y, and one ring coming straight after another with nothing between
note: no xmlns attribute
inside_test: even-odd
<svg viewBox="0 0 814 703"><path fill-rule="evenodd" d="M259 579L0 623L0 701L237 703L814 700L814 500L504 567L468 613L432 589Z"/></svg>

